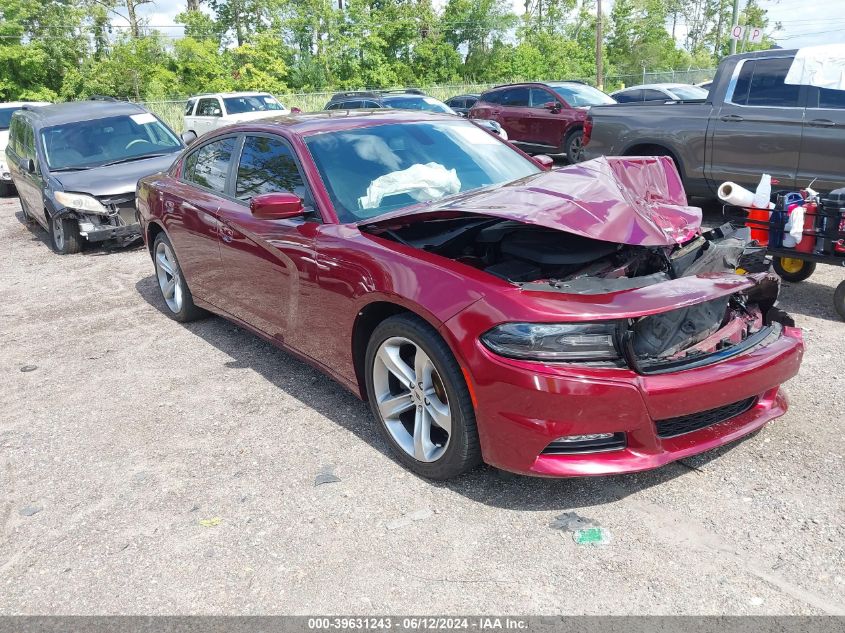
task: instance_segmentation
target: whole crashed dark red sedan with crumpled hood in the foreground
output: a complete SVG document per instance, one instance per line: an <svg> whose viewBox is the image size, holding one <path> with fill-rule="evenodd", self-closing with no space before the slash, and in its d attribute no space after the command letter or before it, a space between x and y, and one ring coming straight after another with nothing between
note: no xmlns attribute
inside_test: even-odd
<svg viewBox="0 0 845 633"><path fill-rule="evenodd" d="M137 197L171 316L326 372L426 477L638 471L782 415L803 346L733 272L759 249L702 235L669 159L546 170L455 117L324 112L210 133Z"/></svg>

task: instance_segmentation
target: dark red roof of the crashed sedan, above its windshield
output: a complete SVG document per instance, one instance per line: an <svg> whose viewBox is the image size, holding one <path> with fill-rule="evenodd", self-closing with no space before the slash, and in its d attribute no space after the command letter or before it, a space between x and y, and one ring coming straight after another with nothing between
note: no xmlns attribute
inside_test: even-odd
<svg viewBox="0 0 845 633"><path fill-rule="evenodd" d="M310 136L322 132L354 130L388 123L418 123L422 121L466 121L453 114L425 110L320 110L308 114L283 114L255 121L244 121L220 128L227 133L244 131L280 132L296 136ZM467 123L469 123L467 121ZM469 123L472 125L472 123Z"/></svg>

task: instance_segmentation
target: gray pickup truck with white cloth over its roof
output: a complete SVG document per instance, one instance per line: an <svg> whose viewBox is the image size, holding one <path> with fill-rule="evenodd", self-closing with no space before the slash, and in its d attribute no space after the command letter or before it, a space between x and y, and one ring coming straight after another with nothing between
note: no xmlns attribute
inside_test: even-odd
<svg viewBox="0 0 845 633"><path fill-rule="evenodd" d="M687 194L707 198L726 180L754 186L763 172L783 188L814 178L818 191L841 187L845 90L784 83L796 52L726 57L703 101L593 106L585 157L671 156Z"/></svg>

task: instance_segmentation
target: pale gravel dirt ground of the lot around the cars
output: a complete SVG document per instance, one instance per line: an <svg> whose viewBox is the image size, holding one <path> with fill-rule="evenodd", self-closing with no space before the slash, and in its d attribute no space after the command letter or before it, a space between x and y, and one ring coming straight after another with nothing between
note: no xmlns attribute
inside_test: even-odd
<svg viewBox="0 0 845 633"><path fill-rule="evenodd" d="M636 476L444 485L315 370L168 319L143 249L53 255L16 199L0 244L2 613L845 614L841 269L784 287L807 356L753 437ZM570 511L610 544L550 527Z"/></svg>

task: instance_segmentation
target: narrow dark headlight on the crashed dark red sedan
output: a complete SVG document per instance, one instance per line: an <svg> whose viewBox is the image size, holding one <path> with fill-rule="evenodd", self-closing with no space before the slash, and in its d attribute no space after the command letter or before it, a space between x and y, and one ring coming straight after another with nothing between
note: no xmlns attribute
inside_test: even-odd
<svg viewBox="0 0 845 633"><path fill-rule="evenodd" d="M481 341L509 358L544 361L592 361L619 358L616 323L504 323Z"/></svg>

